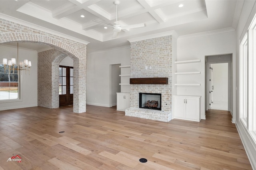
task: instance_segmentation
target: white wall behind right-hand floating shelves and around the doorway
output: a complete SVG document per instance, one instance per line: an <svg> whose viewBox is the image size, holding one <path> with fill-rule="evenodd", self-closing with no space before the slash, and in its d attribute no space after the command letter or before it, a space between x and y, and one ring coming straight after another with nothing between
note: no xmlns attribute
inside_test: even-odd
<svg viewBox="0 0 256 170"><path fill-rule="evenodd" d="M200 86L178 86L174 87L177 95L199 95L201 96L201 119L205 119L205 56L232 53L236 56L235 31L219 30L210 32L210 35L196 34L178 38L177 61L200 59L200 63L184 65L184 70L179 71L201 71L198 75L180 75L177 83L200 83ZM219 33L220 32L220 33ZM235 62L233 62L233 66ZM235 66L234 66L235 67ZM234 69L233 67L233 69ZM235 81L233 79L233 81ZM234 83L233 83L234 84ZM175 92L176 91L176 92ZM234 112L234 111L233 111Z"/></svg>

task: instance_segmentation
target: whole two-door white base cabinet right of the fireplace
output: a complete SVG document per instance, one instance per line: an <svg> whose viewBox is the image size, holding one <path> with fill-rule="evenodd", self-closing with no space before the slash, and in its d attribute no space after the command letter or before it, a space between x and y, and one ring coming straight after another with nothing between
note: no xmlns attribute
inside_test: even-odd
<svg viewBox="0 0 256 170"><path fill-rule="evenodd" d="M200 121L200 96L174 96L174 119Z"/></svg>

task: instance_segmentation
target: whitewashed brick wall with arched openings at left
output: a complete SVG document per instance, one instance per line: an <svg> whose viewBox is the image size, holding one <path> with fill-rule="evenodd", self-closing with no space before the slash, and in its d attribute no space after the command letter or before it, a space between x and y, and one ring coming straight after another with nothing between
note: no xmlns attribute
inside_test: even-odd
<svg viewBox="0 0 256 170"><path fill-rule="evenodd" d="M40 106L58 107L58 81L56 79L58 63L64 55L74 59L74 113L86 111L86 44L69 40L54 34L36 30L28 26L0 19L0 43L31 42L48 45L59 52L49 53L47 57L38 59L38 84L47 79L49 89L38 89ZM53 51L50 51L53 52ZM50 63L49 63L50 61ZM42 73L40 73L42 71ZM47 77L45 77L47 76ZM40 80L39 80L40 79ZM42 90L42 91L41 91ZM47 101L48 100L48 101Z"/></svg>

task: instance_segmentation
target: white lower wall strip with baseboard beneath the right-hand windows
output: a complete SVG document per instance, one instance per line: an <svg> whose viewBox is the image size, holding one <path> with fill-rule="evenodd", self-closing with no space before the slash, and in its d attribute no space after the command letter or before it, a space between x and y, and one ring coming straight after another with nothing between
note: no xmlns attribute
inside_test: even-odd
<svg viewBox="0 0 256 170"><path fill-rule="evenodd" d="M246 151L246 154L248 156L248 159L250 161L250 164L252 166L253 170L256 170L256 143L250 136L250 134L247 132L247 130L240 125L241 123L236 121L236 128L238 130L238 134L242 140L242 143L244 145L244 149ZM244 132L243 132L244 131Z"/></svg>

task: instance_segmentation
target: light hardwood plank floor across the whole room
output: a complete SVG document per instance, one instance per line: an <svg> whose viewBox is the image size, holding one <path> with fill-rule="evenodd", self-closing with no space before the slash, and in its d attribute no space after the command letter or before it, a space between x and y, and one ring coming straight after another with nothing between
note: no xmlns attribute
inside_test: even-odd
<svg viewBox="0 0 256 170"><path fill-rule="evenodd" d="M0 170L252 169L228 111L210 110L200 123L164 123L126 117L115 107L86 109L0 111ZM7 162L16 155L21 162Z"/></svg>

